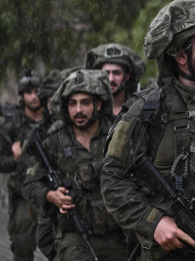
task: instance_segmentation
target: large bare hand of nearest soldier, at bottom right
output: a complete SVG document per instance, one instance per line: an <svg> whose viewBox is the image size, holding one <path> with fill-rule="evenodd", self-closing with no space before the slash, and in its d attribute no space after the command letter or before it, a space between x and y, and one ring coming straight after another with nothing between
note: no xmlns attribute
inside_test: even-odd
<svg viewBox="0 0 195 261"><path fill-rule="evenodd" d="M178 228L175 219L168 216L161 217L155 230L154 239L167 251L182 248L183 244L180 239L195 247L195 241Z"/></svg>

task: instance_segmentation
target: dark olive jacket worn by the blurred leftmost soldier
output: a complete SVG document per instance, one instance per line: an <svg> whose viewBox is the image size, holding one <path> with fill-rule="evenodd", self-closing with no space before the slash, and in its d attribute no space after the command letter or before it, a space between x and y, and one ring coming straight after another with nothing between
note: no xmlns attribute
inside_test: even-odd
<svg viewBox="0 0 195 261"><path fill-rule="evenodd" d="M50 121L44 118L44 120L41 120L39 123L42 134L45 136L46 130L50 125ZM29 134L32 132L32 128L35 124L37 123L29 118L22 110L12 120L5 122L1 129L3 129L10 136L13 143L20 141L21 147L23 147L24 142L27 137L29 138ZM28 152L30 153L30 151ZM24 180L24 177L22 178L22 174L24 173L26 166L28 166L28 160L29 155L23 152L19 160L16 162L11 151L11 145L8 144L7 141L0 135L0 171L3 173L13 172L8 182L8 187L10 187L13 192L17 194L20 194L22 180Z"/></svg>

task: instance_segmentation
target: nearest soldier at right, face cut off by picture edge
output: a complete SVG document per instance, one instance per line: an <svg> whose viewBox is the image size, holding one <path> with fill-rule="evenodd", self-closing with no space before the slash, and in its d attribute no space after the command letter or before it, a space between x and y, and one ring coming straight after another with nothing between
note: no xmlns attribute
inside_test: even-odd
<svg viewBox="0 0 195 261"><path fill-rule="evenodd" d="M122 228L136 233L142 244L137 260L195 258L185 244L195 247L195 241L172 218L169 206L173 201L166 201L154 190L143 171L140 176L135 174L139 170L136 159L145 153L175 193L184 188L188 196L195 196L195 127L191 118L195 117L194 15L195 1L176 0L155 17L144 50L146 58L157 61L159 87L136 93L124 105L104 150L104 203ZM129 260L134 260L131 257Z"/></svg>

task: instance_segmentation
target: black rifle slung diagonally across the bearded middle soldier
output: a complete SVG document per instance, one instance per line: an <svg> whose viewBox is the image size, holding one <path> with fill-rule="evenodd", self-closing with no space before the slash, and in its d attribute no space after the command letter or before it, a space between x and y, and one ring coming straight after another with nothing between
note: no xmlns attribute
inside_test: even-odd
<svg viewBox="0 0 195 261"><path fill-rule="evenodd" d="M47 170L47 177L50 181L50 183L52 184L52 187L57 190L59 187L65 187L67 188L67 190L69 191L69 193L65 193L66 196L70 196L72 198L75 197L74 191L72 189L72 183L69 179L63 179L62 181L60 180L59 176L60 176L60 171L58 169L54 169L51 165L51 163L49 162L49 159L46 155L46 152L40 142L40 130L35 128L34 129L35 134L36 134L36 139L33 142L33 146L35 146L35 149L37 150L40 159L41 159L41 163L44 166L44 168ZM91 254L94 257L95 261L98 261L98 258L93 250L93 248L91 247L91 244L88 241L88 233L87 230L85 228L85 222L82 219L79 211L76 209L76 205L73 209L68 210L68 213L70 214L70 217L72 219L72 225L75 229L75 231L78 234L81 234L85 244L87 245L87 247L89 248L89 250L91 251Z"/></svg>

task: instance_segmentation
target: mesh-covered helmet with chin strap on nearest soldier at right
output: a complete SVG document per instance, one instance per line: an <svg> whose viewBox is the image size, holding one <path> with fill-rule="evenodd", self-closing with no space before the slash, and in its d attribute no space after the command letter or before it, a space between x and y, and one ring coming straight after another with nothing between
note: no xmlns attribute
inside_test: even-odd
<svg viewBox="0 0 195 261"><path fill-rule="evenodd" d="M179 49L183 48L184 52L189 52L188 67L190 66L190 44L185 46L185 43L195 34L194 15L194 0L175 0L161 9L150 24L145 37L144 52L146 59L157 61L158 85L163 84L163 78L173 75L176 67L171 57L176 57ZM195 80L195 72L194 75L193 71L190 72Z"/></svg>

